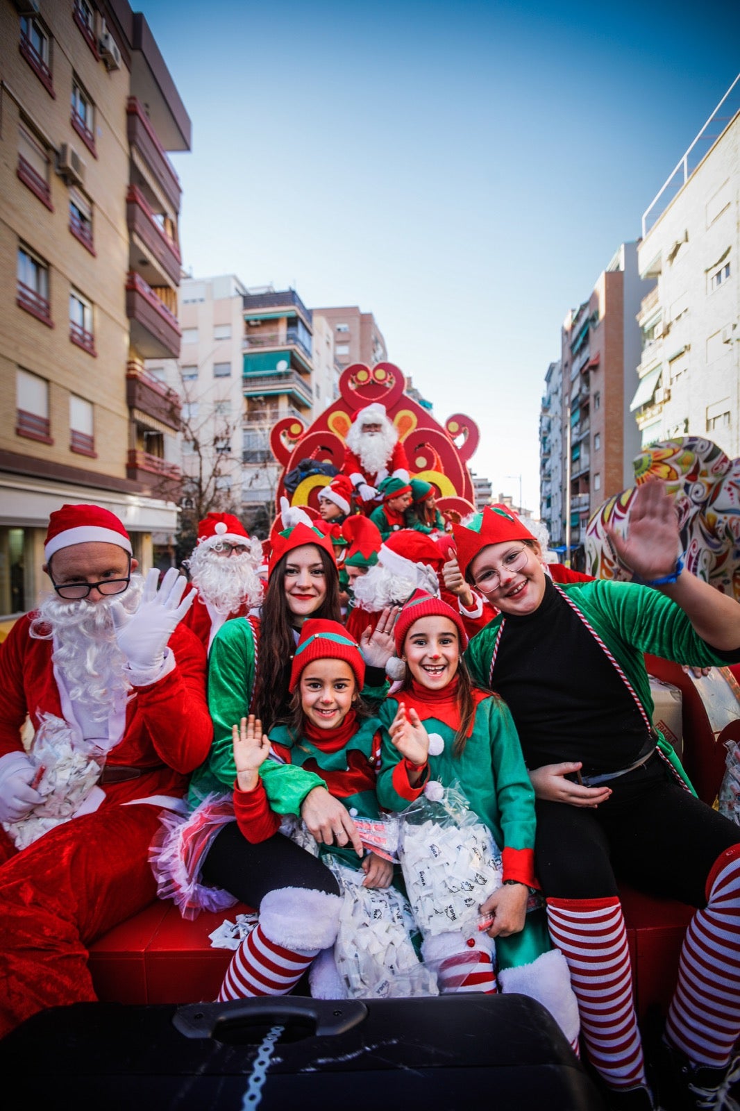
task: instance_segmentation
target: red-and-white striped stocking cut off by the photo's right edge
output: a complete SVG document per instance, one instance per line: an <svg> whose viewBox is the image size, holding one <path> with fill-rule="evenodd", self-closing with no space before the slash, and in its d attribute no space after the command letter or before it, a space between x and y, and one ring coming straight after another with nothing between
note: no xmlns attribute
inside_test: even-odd
<svg viewBox="0 0 740 1111"><path fill-rule="evenodd" d="M718 858L707 890L686 931L666 1033L693 1064L717 1069L740 1037L740 844Z"/></svg>

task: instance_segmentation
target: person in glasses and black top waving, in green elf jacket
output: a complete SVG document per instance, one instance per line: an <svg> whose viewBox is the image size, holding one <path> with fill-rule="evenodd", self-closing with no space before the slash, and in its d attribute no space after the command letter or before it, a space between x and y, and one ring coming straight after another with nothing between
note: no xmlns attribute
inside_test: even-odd
<svg viewBox="0 0 740 1111"><path fill-rule="evenodd" d="M453 532L460 570L500 610L467 660L474 681L506 699L519 731L550 932L571 968L610 1105L656 1105L620 877L697 908L659 1060L668 1083L683 1089L681 1107L737 1109L728 1089L740 1037L740 834L696 798L653 728L643 652L696 667L738 660L740 605L683 570L676 509L659 481L638 488L626 538L611 536L638 582L553 583L537 540L500 509Z"/></svg>

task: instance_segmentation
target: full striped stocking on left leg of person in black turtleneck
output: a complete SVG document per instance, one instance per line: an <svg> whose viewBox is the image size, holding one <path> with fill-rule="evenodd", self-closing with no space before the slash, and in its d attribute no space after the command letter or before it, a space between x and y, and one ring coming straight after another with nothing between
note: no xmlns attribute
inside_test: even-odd
<svg viewBox="0 0 740 1111"><path fill-rule="evenodd" d="M568 961L591 1063L610 1088L644 1085L619 899L548 899L548 923L553 943Z"/></svg>

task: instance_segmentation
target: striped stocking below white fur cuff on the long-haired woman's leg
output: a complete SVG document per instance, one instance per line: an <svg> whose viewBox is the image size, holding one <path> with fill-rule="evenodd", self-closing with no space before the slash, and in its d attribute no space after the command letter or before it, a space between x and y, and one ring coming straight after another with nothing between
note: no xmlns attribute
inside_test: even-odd
<svg viewBox="0 0 740 1111"><path fill-rule="evenodd" d="M306 952L278 945L264 935L258 922L231 959L219 1002L252 995L287 995L318 952L318 949Z"/></svg>

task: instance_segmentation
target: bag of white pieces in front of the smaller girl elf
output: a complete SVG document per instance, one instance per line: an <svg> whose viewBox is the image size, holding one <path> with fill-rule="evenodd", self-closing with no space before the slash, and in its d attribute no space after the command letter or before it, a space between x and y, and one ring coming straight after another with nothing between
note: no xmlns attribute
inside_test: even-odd
<svg viewBox="0 0 740 1111"><path fill-rule="evenodd" d="M327 857L342 889L337 970L349 999L438 995L434 975L417 957L411 908L396 888L363 888L364 872Z"/></svg>

